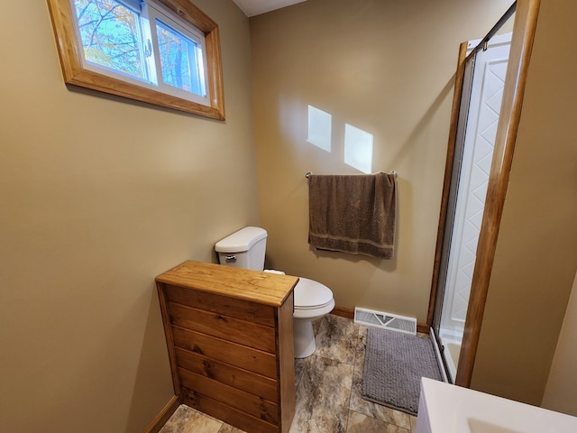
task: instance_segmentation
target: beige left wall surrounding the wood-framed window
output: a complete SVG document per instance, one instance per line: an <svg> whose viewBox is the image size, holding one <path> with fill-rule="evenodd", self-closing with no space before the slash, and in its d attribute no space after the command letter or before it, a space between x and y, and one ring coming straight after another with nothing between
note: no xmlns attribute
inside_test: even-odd
<svg viewBox="0 0 577 433"><path fill-rule="evenodd" d="M0 430L142 432L172 395L154 277L259 224L249 21L220 25L226 121L67 88L46 2L5 2Z"/></svg>

